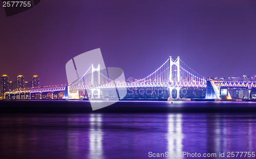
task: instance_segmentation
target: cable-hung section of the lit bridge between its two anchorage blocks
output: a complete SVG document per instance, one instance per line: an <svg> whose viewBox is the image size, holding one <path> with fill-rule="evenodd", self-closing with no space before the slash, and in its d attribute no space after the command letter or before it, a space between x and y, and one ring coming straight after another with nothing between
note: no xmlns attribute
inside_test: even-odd
<svg viewBox="0 0 256 159"><path fill-rule="evenodd" d="M180 60L180 57L176 60L169 57L152 74L134 82L115 80L115 78L107 72L107 69L101 68L100 65L94 67L92 64L78 81L70 85L69 89L72 91L84 89L94 91L96 89L138 87L163 87L171 91L176 89L177 92L179 92L181 87L206 87L206 80L202 75ZM177 97L179 98L179 93Z"/></svg>

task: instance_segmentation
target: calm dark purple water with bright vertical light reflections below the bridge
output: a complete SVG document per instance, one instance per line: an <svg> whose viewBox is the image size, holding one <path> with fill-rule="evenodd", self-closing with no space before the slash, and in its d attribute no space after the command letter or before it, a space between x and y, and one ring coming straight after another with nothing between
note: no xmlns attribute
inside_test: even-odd
<svg viewBox="0 0 256 159"><path fill-rule="evenodd" d="M219 152L256 151L256 116L252 113L0 115L1 158L154 158L148 152L183 151L217 153L217 157L205 158L220 158Z"/></svg>

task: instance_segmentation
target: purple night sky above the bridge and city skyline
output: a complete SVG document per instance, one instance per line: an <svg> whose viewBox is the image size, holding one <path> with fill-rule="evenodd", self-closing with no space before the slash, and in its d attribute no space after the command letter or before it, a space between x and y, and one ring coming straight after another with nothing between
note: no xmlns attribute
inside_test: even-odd
<svg viewBox="0 0 256 159"><path fill-rule="evenodd" d="M67 84L66 63L100 48L106 67L142 78L169 56L207 77L256 75L256 1L48 1L6 17L0 74Z"/></svg>

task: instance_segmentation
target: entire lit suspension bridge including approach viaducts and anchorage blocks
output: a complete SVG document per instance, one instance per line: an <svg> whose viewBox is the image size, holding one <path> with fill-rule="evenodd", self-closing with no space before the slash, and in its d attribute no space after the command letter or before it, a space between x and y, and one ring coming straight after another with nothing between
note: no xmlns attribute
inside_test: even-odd
<svg viewBox="0 0 256 159"><path fill-rule="evenodd" d="M222 96L221 90L227 87L244 87L248 88L248 90L256 88L256 82L206 81L204 76L187 66L180 57L177 57L176 60L169 57L153 73L133 82L126 82L125 78L118 78L116 75L118 70L114 69L114 74L113 71L110 73L110 70L111 68L102 68L99 64L97 66L91 64L87 71L78 80L69 84L67 88L31 90L29 93L31 96L31 93L42 94L65 91L64 98L78 98L79 91L87 90L91 92L89 94L91 94L92 98L94 91L98 92L98 98L102 98L100 91L104 89L165 88L169 92L169 98L172 98L174 89L177 91L177 98L180 98L181 88L202 87L206 88L206 99L220 99L220 96ZM6 95L8 93L9 97L10 94L13 94L13 92L6 92ZM225 95L228 96L228 93Z"/></svg>

